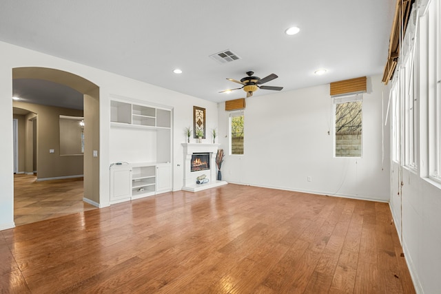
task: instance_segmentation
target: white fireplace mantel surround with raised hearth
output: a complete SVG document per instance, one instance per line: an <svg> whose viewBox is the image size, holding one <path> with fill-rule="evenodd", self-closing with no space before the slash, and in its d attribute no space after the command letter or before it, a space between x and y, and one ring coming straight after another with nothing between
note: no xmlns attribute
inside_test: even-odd
<svg viewBox="0 0 441 294"><path fill-rule="evenodd" d="M207 143L182 143L184 147L184 185L185 191L202 191L205 189L226 185L225 180L216 180L217 167L216 167L216 154L220 144L207 144ZM194 153L209 153L209 171L195 172L191 171L192 166L192 154ZM208 174L207 178L209 182L198 185L196 184L196 178L201 174Z"/></svg>

